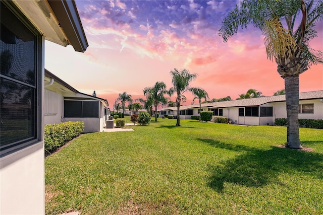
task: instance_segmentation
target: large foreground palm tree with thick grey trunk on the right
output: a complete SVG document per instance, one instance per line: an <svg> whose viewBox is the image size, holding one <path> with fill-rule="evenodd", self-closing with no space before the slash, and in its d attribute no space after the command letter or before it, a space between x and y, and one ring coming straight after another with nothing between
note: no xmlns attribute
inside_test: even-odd
<svg viewBox="0 0 323 215"><path fill-rule="evenodd" d="M276 61L277 71L285 81L286 147L292 149L302 148L298 128L299 75L311 64L323 63L322 51L309 46L317 36L315 24L322 19L322 0L244 0L229 12L219 31L225 42L239 27L247 28L251 23L263 33L267 58Z"/></svg>

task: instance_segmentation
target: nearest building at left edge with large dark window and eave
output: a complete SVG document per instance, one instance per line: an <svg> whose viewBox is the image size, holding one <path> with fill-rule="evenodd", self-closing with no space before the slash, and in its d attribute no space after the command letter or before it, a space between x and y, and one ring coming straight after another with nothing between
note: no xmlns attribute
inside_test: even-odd
<svg viewBox="0 0 323 215"><path fill-rule="evenodd" d="M88 43L73 0L0 4L0 214L44 214L44 40Z"/></svg>

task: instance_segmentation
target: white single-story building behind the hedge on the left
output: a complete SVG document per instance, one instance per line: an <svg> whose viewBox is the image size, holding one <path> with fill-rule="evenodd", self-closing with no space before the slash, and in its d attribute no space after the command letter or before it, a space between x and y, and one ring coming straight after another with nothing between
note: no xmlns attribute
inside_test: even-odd
<svg viewBox="0 0 323 215"><path fill-rule="evenodd" d="M81 93L45 69L44 123L83 121L84 132L103 130L109 114L106 99Z"/></svg>

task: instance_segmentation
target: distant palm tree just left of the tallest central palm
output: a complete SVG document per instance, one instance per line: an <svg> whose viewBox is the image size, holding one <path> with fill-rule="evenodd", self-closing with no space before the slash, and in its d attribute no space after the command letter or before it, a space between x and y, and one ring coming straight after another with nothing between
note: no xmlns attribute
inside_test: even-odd
<svg viewBox="0 0 323 215"><path fill-rule="evenodd" d="M143 90L144 96L152 100L153 106L155 107L155 122L157 121L157 107L159 104L167 104L167 94L166 84L164 82L156 82L153 87L146 87Z"/></svg>

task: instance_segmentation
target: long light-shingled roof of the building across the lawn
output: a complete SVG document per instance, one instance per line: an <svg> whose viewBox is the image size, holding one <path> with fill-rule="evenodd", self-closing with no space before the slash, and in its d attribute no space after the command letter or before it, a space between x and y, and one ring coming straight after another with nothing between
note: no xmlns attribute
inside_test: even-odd
<svg viewBox="0 0 323 215"><path fill-rule="evenodd" d="M299 100L309 100L309 99L323 99L323 90L299 93ZM201 107L208 107L208 108L248 107L248 106L259 106L270 102L284 102L284 101L286 101L285 95L265 96L265 97L251 98L251 99L202 103ZM198 108L198 107L199 107L199 104L183 105L183 106L180 106L180 110L186 110L186 109L192 109L192 108ZM172 107L172 109L163 108L160 110L177 110L177 107Z"/></svg>

